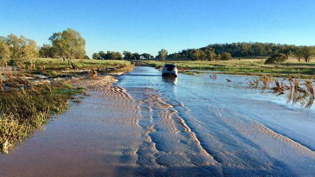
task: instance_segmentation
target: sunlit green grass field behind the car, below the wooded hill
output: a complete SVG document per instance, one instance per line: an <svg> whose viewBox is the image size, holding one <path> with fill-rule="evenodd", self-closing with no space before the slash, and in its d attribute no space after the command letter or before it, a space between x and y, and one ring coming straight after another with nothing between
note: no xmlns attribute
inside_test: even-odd
<svg viewBox="0 0 315 177"><path fill-rule="evenodd" d="M264 64L266 58L241 58L230 61L181 61L172 60L168 63L175 63L180 70L209 70L223 71L226 74L240 75L262 75L267 73L273 76L282 76L281 74L301 75L302 78L311 79L315 75L315 62L305 63L297 62L293 57L289 57L279 68L274 65ZM311 60L312 61L312 60ZM313 59L315 61L315 59ZM142 61L153 67L162 65L161 61ZM307 76L302 76L307 75Z"/></svg>

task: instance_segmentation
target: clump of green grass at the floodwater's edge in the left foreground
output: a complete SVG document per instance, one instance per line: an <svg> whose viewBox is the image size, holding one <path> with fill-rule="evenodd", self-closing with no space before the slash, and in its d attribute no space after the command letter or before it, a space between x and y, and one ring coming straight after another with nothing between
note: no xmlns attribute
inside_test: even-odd
<svg viewBox="0 0 315 177"><path fill-rule="evenodd" d="M47 123L51 113L64 112L70 96L83 92L84 88L67 83L1 92L0 152L7 153L17 141Z"/></svg>

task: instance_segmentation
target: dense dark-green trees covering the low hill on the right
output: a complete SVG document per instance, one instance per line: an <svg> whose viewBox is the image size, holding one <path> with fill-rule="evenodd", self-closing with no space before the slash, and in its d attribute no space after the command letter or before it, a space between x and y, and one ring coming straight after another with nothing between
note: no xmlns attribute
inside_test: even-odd
<svg viewBox="0 0 315 177"><path fill-rule="evenodd" d="M305 62L309 62L310 56L314 55L314 51L315 46L239 42L231 44L210 44L203 48L183 49L182 51L167 55L166 58L213 61L229 60L231 57L264 57L277 53L283 53L286 56L296 56L298 61L300 61L300 59L304 59Z"/></svg>

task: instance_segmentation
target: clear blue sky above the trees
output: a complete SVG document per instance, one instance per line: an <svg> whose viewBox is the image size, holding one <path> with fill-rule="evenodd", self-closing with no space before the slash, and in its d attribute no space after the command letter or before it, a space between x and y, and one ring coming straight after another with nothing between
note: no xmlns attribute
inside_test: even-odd
<svg viewBox="0 0 315 177"><path fill-rule="evenodd" d="M89 56L100 50L157 55L212 43L315 45L315 0L1 0L0 35L49 43L72 28Z"/></svg>

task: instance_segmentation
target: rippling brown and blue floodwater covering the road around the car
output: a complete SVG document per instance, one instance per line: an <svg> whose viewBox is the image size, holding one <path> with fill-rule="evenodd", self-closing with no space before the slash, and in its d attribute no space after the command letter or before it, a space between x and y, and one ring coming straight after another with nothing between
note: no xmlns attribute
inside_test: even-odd
<svg viewBox="0 0 315 177"><path fill-rule="evenodd" d="M314 107L246 78L136 66L0 155L0 176L315 176Z"/></svg>

